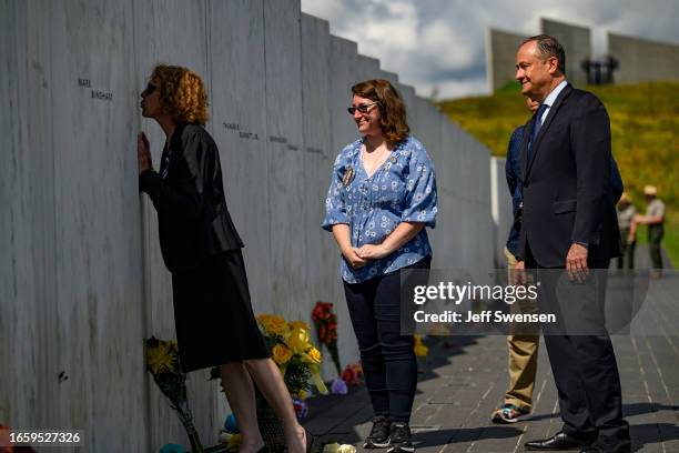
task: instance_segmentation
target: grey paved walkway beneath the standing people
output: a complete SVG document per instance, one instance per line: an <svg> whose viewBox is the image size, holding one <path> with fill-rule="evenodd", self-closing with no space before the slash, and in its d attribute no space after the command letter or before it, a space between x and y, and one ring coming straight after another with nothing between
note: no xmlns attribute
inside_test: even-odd
<svg viewBox="0 0 679 453"><path fill-rule="evenodd" d="M645 250L639 250L645 264ZM615 288L615 276L611 276ZM609 291L610 293L610 291ZM649 298L635 320L632 335L614 336L620 369L624 411L631 426L632 451L679 452L679 273L666 272L649 286ZM504 336L450 336L434 340L420 361L412 429L417 452L521 452L527 440L559 431L554 378L539 350L534 416L514 425L490 423L507 385ZM307 430L361 449L372 409L364 387L348 395L310 400Z"/></svg>

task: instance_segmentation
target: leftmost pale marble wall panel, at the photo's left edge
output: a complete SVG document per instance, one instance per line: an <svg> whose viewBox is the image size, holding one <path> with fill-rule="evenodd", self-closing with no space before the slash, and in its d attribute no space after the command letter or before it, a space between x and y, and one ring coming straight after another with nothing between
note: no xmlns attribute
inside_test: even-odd
<svg viewBox="0 0 679 453"><path fill-rule="evenodd" d="M49 8L0 2L0 420L44 426L58 390Z"/></svg>

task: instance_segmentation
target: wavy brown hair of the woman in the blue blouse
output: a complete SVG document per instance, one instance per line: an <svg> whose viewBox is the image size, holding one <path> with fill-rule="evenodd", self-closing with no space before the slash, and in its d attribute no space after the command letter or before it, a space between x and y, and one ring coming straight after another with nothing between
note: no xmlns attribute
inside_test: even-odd
<svg viewBox="0 0 679 453"><path fill-rule="evenodd" d="M352 87L352 93L377 102L382 133L391 143L408 138L411 127L406 119L406 107L394 85L384 79L366 80Z"/></svg>

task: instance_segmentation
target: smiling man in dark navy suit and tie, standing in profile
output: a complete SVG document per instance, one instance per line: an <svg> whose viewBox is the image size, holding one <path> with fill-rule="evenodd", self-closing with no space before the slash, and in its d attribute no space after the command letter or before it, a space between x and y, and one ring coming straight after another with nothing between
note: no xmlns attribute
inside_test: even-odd
<svg viewBox="0 0 679 453"><path fill-rule="evenodd" d="M564 48L544 34L525 40L516 56L521 93L540 103L521 143L517 269L538 270L544 280L540 311L556 306L566 320L566 330L544 325L564 426L553 437L527 442L526 447L629 452L620 376L604 326L606 272L595 272L608 269L610 259L620 253L611 202L610 123L601 101L566 81L565 61ZM596 274L595 298L570 298L564 303L563 280L553 276L559 270L585 285ZM574 283L572 289L577 292L579 286ZM575 334L578 322L590 331Z"/></svg>

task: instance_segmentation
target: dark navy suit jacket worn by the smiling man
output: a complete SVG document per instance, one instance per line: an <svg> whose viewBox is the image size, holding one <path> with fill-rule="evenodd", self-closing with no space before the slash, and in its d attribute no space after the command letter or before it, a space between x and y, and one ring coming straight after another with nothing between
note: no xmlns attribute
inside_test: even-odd
<svg viewBox="0 0 679 453"><path fill-rule="evenodd" d="M519 258L526 243L540 266L563 268L574 242L588 244L588 260L620 254L620 232L610 184L610 123L594 94L566 85L533 143L535 115L521 143L524 207Z"/></svg>

